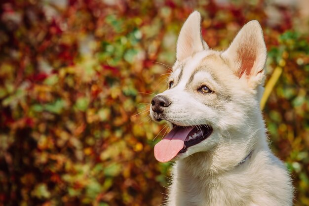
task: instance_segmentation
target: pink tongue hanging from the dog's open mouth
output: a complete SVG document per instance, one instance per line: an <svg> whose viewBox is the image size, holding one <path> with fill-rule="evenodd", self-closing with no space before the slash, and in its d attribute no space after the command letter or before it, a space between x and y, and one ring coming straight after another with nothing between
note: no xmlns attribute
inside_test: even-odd
<svg viewBox="0 0 309 206"><path fill-rule="evenodd" d="M175 126L154 146L154 157L161 163L172 160L184 148L185 139L193 127Z"/></svg>

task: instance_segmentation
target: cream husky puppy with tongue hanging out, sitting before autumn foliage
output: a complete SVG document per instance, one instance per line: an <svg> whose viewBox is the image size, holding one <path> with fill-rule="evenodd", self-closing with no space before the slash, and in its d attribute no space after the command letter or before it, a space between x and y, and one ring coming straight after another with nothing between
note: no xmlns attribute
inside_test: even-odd
<svg viewBox="0 0 309 206"><path fill-rule="evenodd" d="M166 206L291 206L293 186L270 151L260 110L267 49L258 21L215 51L194 11L177 41L168 89L151 101L154 121L171 131L154 146L175 161Z"/></svg>

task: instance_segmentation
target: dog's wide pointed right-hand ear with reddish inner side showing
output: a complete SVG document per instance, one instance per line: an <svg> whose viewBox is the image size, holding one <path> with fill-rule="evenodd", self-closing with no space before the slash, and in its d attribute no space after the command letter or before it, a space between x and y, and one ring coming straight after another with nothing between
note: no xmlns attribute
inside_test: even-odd
<svg viewBox="0 0 309 206"><path fill-rule="evenodd" d="M222 57L236 76L248 79L250 86L264 83L267 49L259 22L253 20L244 25Z"/></svg>

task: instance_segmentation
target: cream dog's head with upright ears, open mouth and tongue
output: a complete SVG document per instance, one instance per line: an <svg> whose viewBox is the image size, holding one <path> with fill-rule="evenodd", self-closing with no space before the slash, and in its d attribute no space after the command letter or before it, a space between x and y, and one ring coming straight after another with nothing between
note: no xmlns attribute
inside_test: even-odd
<svg viewBox="0 0 309 206"><path fill-rule="evenodd" d="M197 11L186 20L168 89L151 102L152 119L173 125L155 145L160 162L215 149L228 151L233 145L234 150L249 147L252 134L263 124L259 102L267 50L260 24L244 25L222 52L203 41L200 23Z"/></svg>

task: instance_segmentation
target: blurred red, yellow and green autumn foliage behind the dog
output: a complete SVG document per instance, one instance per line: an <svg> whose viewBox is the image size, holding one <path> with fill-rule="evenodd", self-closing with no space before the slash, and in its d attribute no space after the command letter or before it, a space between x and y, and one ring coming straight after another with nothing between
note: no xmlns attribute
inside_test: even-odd
<svg viewBox="0 0 309 206"><path fill-rule="evenodd" d="M0 3L0 206L158 206L170 163L149 117L193 10L210 47L258 20L268 48L270 145L309 206L309 1ZM266 100L265 99L265 100ZM155 138L156 137L156 138Z"/></svg>

